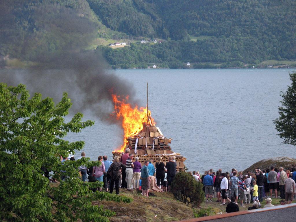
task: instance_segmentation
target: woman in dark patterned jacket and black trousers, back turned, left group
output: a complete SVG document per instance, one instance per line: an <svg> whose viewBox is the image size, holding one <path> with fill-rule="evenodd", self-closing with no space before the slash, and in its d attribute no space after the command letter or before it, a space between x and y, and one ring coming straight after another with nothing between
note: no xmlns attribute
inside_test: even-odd
<svg viewBox="0 0 296 222"><path fill-rule="evenodd" d="M126 165L119 162L118 156L114 157L114 162L110 165L107 172L107 176L111 176L110 194L113 193L114 183L115 183L115 194L119 194L119 181L121 178L121 168L125 169Z"/></svg>

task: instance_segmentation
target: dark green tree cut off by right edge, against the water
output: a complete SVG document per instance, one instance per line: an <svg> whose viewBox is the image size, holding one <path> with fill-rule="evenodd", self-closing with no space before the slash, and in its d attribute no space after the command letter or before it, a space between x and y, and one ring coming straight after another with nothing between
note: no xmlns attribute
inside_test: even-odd
<svg viewBox="0 0 296 222"><path fill-rule="evenodd" d="M296 145L296 72L290 73L291 86L281 92L282 100L279 107L279 117L274 120L276 130L284 138L283 143Z"/></svg>

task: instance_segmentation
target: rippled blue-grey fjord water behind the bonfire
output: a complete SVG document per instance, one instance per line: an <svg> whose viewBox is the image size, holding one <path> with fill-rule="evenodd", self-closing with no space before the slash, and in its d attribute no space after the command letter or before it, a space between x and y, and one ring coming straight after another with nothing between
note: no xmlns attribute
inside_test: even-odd
<svg viewBox="0 0 296 222"><path fill-rule="evenodd" d="M292 71L147 69L115 73L135 87L141 106L146 105L149 83L149 110L156 126L164 136L173 138L171 148L187 158L189 170L202 174L210 168L244 170L269 157L296 157L295 147L282 144L273 123L278 117L280 91L290 85ZM94 127L67 139L85 141L83 151L91 160L99 155L111 160L112 150L122 143L122 130L95 121Z"/></svg>

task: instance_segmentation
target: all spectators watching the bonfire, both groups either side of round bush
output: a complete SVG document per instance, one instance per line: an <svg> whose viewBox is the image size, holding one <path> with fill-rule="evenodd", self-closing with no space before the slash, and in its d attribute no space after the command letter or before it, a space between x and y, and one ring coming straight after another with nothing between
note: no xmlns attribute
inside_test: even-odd
<svg viewBox="0 0 296 222"><path fill-rule="evenodd" d="M84 158L85 153L81 153L80 158ZM64 162L67 159L75 160L72 156L62 158ZM80 166L78 168L81 173L81 179L89 182L101 181L104 183L106 192L112 193L115 188L115 194L119 194L119 188L128 191L141 190L142 195L149 197L149 190L159 192L170 192L170 186L176 176L176 160L175 156L170 156L168 162L164 163L162 157L158 157L155 165L152 160L146 160L142 166L139 157L130 154L130 150L126 149L121 157L115 156L113 161L107 160L106 155L99 156L101 161L99 166L86 168ZM295 181L296 166L292 165L285 169L282 167L260 170L254 169L253 172L238 172L231 169L231 173L222 172L222 169L213 171L210 169L200 176L198 171L193 171L192 176L198 182L203 184L206 202L212 202L214 196L217 197L216 202L220 205L226 205L226 212L238 211L238 201L241 207L244 204L253 203L249 209L261 207L263 198L266 200L264 207L273 206L271 198L280 197L283 199L282 204L289 204L295 197ZM65 177L62 176L61 180ZM95 191L95 190L94 190ZM99 187L102 191L102 187ZM279 194L279 195L278 195Z"/></svg>

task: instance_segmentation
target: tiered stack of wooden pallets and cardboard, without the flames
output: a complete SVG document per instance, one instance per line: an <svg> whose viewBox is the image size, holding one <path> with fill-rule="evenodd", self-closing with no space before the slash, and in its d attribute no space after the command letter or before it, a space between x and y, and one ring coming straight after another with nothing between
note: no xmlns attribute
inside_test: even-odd
<svg viewBox="0 0 296 222"><path fill-rule="evenodd" d="M184 170L186 158L172 151L169 145L171 141L171 138L163 136L158 127L152 126L149 123L143 123L142 130L136 136L127 139L126 148L131 150L134 157L139 157L139 162L142 165L144 165L145 160L152 160L152 164L155 165L159 156L166 163L169 156L175 156L177 171ZM113 152L113 157L121 155L122 152Z"/></svg>

